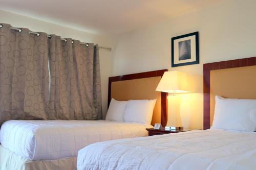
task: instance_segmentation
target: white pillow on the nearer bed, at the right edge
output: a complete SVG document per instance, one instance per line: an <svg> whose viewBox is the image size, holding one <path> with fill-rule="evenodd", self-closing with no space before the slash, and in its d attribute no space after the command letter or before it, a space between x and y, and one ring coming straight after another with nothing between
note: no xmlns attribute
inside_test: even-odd
<svg viewBox="0 0 256 170"><path fill-rule="evenodd" d="M256 130L256 100L215 97L213 129L254 132Z"/></svg>

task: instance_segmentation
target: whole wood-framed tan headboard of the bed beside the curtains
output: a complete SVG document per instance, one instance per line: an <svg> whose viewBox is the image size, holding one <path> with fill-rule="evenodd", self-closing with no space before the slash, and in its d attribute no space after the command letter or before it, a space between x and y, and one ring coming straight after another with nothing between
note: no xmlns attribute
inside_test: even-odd
<svg viewBox="0 0 256 170"><path fill-rule="evenodd" d="M151 125L167 123L167 93L156 91L156 87L167 69L140 72L137 74L109 78L108 106L112 98L119 101L157 99Z"/></svg>

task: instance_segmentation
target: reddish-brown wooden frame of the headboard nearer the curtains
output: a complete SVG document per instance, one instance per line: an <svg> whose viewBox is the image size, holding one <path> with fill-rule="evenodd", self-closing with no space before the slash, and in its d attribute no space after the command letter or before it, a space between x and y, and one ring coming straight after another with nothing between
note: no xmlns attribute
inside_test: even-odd
<svg viewBox="0 0 256 170"><path fill-rule="evenodd" d="M143 78L151 78L163 76L164 72L168 71L167 69L156 70L156 71L148 71L148 72L140 72L131 75L123 75L123 76L115 76L109 78L109 92L108 92L108 107L111 101L111 84L116 81L123 80L133 80L133 79L143 79ZM167 124L167 93L161 92L161 124L162 126L166 126Z"/></svg>

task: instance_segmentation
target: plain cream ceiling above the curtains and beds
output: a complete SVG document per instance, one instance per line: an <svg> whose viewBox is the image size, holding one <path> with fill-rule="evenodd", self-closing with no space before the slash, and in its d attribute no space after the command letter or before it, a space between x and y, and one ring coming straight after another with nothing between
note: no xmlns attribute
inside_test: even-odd
<svg viewBox="0 0 256 170"><path fill-rule="evenodd" d="M120 34L223 0L0 0L0 9L96 34Z"/></svg>

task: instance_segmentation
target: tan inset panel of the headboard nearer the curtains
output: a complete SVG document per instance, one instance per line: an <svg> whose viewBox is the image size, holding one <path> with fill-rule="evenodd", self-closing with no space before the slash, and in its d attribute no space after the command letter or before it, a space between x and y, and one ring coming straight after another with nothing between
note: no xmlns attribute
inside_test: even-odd
<svg viewBox="0 0 256 170"><path fill-rule="evenodd" d="M161 92L156 91L160 79L158 76L113 82L111 98L119 101L157 99L151 124L161 123Z"/></svg>

